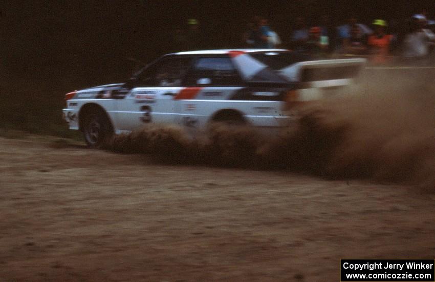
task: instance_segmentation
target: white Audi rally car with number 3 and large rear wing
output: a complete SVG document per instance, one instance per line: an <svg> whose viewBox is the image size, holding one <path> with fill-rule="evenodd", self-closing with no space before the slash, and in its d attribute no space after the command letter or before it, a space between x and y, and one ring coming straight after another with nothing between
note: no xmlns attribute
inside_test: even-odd
<svg viewBox="0 0 435 282"><path fill-rule="evenodd" d="M173 53L126 83L66 94L63 115L91 147L146 124L201 129L217 121L280 128L297 121L286 105L350 85L364 64L359 58L308 61L281 49Z"/></svg>

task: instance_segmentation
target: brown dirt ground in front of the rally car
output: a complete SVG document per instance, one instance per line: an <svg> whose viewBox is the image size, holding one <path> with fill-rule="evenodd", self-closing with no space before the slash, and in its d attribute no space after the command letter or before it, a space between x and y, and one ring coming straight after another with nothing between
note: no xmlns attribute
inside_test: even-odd
<svg viewBox="0 0 435 282"><path fill-rule="evenodd" d="M430 189L53 145L0 138L1 281L338 281L435 253Z"/></svg>

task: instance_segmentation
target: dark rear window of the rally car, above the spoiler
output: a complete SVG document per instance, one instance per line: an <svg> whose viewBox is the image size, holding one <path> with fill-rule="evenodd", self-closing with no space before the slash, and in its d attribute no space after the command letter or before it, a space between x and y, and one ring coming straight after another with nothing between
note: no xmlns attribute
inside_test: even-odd
<svg viewBox="0 0 435 282"><path fill-rule="evenodd" d="M280 70L298 62L310 61L309 56L290 51L250 53L249 55L272 70Z"/></svg>

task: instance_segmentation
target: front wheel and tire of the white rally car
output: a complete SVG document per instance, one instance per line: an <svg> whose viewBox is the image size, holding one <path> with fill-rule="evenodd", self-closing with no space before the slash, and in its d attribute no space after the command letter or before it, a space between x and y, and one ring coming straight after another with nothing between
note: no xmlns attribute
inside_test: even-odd
<svg viewBox="0 0 435 282"><path fill-rule="evenodd" d="M83 137L91 148L104 148L113 137L113 128L102 111L92 111L83 117Z"/></svg>

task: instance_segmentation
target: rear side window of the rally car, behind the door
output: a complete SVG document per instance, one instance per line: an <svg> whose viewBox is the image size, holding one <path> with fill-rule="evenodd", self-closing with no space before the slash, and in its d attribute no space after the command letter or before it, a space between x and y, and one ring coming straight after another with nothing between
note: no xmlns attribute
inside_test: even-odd
<svg viewBox="0 0 435 282"><path fill-rule="evenodd" d="M231 59L226 57L198 58L187 78L189 86L236 86L241 83L242 79Z"/></svg>

